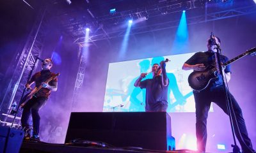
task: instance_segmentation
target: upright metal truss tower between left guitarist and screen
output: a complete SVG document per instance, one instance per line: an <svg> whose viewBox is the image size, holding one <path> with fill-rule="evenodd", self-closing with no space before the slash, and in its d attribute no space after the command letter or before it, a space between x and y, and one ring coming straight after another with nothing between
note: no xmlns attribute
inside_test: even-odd
<svg viewBox="0 0 256 153"><path fill-rule="evenodd" d="M82 50L82 49L83 49L83 47L79 47L79 50ZM79 96L81 94L81 88L83 86L85 69L86 69L86 57L81 55L81 61L80 61L79 68L77 71L77 76L76 76L76 84L75 84L74 92L73 92L73 96L72 96L72 108L77 107L77 101L79 101Z"/></svg>

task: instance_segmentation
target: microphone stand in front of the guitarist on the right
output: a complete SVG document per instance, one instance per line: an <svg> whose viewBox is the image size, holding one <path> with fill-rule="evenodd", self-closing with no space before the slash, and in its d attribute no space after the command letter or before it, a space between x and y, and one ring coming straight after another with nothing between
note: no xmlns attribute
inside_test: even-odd
<svg viewBox="0 0 256 153"><path fill-rule="evenodd" d="M223 71L222 71L222 66L221 66L221 61L220 61L220 55L221 54L221 48L220 48L220 45L218 45L214 39L214 35L212 34L211 36L211 39L212 41L214 42L214 45L216 45L216 49L217 49L217 54L215 58L217 58L217 62L216 63L216 66L218 66L217 69L220 70L220 75L222 77L222 82L223 82L223 85L224 85L224 91L225 91L225 96L226 96L226 102L227 102L227 110L228 110L228 117L229 117L229 120L230 120L230 126L231 126L231 129L232 129L232 136L233 136L233 139L234 139L234 145L231 145L233 147L233 153L241 153L239 147L237 146L237 143L236 143L236 137L235 137L235 131L234 131L234 124L236 124L235 126L237 127L237 133L239 133L239 136L241 137L241 140L242 142L244 143L244 145L246 147L248 147L246 145L246 143L244 142L242 136L241 136L241 133L239 131L239 127L237 125L237 120L236 120L236 115L234 113L234 108L232 106L232 102L231 102L231 96L230 96L230 92L228 90L228 83L227 83L227 78L225 76L225 74L223 74ZM224 81L224 77L225 77L225 80L226 82ZM248 147L249 149L249 147ZM250 149L249 149L250 150Z"/></svg>

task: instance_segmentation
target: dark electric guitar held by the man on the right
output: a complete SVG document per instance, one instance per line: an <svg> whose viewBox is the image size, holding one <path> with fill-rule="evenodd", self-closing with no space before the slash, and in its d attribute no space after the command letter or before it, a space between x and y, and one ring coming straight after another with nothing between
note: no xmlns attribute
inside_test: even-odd
<svg viewBox="0 0 256 153"><path fill-rule="evenodd" d="M234 59L231 59L230 61L227 61L223 64L223 66L227 66L228 64L231 64L234 61L237 61L238 59L241 59L242 57L246 55L254 55L256 52L256 47L247 50L241 55L238 55ZM216 80L218 78L217 69L215 66L209 66L205 71L193 71L189 77L188 77L188 83L189 86L194 91L203 91L208 85Z"/></svg>

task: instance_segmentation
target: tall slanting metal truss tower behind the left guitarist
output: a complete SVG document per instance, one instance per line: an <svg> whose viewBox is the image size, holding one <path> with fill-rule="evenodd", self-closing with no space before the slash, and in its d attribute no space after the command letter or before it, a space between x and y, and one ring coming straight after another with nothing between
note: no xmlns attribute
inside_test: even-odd
<svg viewBox="0 0 256 153"><path fill-rule="evenodd" d="M45 13L45 9L38 13L24 48L18 52L15 60L12 62L13 65L8 68L8 72L12 73L12 77L1 101L1 113L10 113L13 103L19 105L24 85L26 85L29 73L36 61L35 55L40 56L42 52L47 27ZM37 65L38 63L35 64L35 69Z"/></svg>

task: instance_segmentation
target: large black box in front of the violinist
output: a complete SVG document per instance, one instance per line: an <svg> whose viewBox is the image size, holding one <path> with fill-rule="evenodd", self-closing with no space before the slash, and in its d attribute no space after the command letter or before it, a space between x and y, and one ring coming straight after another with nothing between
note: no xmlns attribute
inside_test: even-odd
<svg viewBox="0 0 256 153"><path fill-rule="evenodd" d="M73 112L65 143L78 138L115 147L175 150L166 112Z"/></svg>

